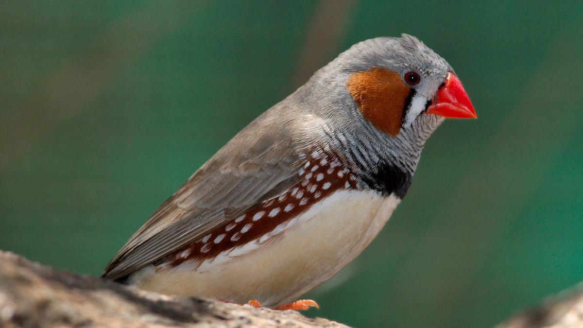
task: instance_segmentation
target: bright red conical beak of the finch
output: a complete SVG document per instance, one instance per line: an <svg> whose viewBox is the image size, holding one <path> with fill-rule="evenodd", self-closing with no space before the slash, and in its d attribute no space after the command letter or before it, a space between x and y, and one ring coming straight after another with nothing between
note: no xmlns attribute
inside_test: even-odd
<svg viewBox="0 0 583 328"><path fill-rule="evenodd" d="M447 74L445 85L437 90L435 99L427 107L427 113L445 118L477 118L462 82L452 72Z"/></svg>

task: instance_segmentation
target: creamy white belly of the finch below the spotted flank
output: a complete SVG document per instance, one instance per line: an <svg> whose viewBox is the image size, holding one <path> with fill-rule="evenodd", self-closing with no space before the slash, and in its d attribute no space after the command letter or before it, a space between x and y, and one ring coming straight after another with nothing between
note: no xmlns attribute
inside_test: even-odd
<svg viewBox="0 0 583 328"><path fill-rule="evenodd" d="M202 263L170 270L145 267L129 277L140 288L275 306L297 298L338 273L381 231L399 198L341 190L254 240ZM275 233L274 233L275 235Z"/></svg>

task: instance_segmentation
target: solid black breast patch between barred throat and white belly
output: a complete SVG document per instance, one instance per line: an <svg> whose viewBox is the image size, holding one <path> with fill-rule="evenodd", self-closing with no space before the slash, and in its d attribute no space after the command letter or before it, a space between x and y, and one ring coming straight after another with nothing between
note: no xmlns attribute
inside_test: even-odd
<svg viewBox="0 0 583 328"><path fill-rule="evenodd" d="M389 163L378 163L375 169L377 170L376 172L371 172L366 176L361 175L359 176L360 179L370 189L380 192L382 196L387 197L395 193L395 196L403 199L409 189L413 175Z"/></svg>

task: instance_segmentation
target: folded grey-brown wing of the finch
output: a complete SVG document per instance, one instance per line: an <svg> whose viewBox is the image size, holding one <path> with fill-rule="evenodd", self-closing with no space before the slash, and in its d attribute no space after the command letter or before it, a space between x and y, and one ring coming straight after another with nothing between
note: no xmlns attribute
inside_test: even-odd
<svg viewBox="0 0 583 328"><path fill-rule="evenodd" d="M300 155L294 151L293 124L268 113L168 198L115 255L103 277L115 280L139 270L296 184Z"/></svg>

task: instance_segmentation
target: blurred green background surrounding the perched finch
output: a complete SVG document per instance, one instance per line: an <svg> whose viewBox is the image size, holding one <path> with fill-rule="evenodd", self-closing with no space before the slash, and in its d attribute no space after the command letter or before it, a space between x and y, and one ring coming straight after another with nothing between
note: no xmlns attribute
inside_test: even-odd
<svg viewBox="0 0 583 328"><path fill-rule="evenodd" d="M0 2L0 249L99 275L253 118L371 37L462 79L380 236L308 294L359 327L484 327L583 280L583 2Z"/></svg>

